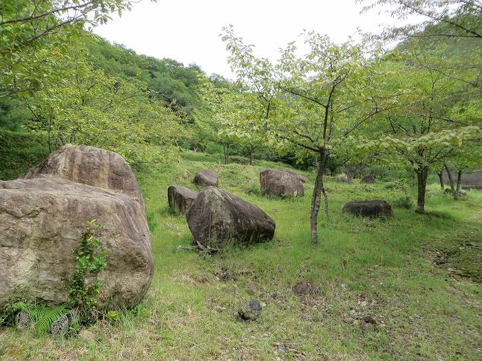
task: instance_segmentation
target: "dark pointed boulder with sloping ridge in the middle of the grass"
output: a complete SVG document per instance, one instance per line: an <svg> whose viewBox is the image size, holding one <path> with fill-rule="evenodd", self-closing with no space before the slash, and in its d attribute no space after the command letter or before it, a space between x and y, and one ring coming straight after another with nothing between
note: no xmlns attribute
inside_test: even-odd
<svg viewBox="0 0 482 361"><path fill-rule="evenodd" d="M260 208L213 186L198 195L186 219L194 239L202 245L269 241L275 234L275 221Z"/></svg>

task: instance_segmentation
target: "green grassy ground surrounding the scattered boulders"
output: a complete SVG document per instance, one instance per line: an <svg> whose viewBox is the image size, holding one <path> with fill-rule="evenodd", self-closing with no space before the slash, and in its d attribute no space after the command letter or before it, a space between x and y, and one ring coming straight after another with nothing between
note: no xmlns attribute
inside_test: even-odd
<svg viewBox="0 0 482 361"><path fill-rule="evenodd" d="M179 163L137 172L151 228L156 273L146 298L117 324L78 338L0 330L0 360L481 360L482 192L454 201L430 186L427 215L395 207L382 221L341 214L345 201L406 196L397 184L340 184L328 177L331 214L318 245L308 223L314 175L297 199L262 197L261 168L182 153ZM275 239L202 256L178 251L191 234L167 208L167 187L193 187L202 168L220 186L276 221ZM414 190L408 196L415 198ZM309 281L313 292L293 285ZM258 298L258 320L235 319ZM376 326L360 324L371 316Z"/></svg>

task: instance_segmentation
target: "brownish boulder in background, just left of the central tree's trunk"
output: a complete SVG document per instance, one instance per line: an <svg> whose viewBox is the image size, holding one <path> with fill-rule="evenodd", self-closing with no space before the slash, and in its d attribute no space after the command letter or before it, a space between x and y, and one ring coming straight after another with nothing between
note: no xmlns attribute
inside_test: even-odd
<svg viewBox="0 0 482 361"><path fill-rule="evenodd" d="M263 195L297 197L304 195L300 176L277 169L264 169L260 172L261 193Z"/></svg>

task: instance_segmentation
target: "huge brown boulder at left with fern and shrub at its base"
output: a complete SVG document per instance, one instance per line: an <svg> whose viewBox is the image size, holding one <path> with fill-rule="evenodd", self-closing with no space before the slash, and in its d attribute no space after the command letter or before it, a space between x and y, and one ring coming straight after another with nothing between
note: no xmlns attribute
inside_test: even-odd
<svg viewBox="0 0 482 361"><path fill-rule="evenodd" d="M31 285L52 305L64 303L76 265L73 250L92 219L103 226L107 250L107 267L98 274L101 303L136 305L154 263L134 174L121 155L64 146L24 179L0 182L0 307L17 285Z"/></svg>

